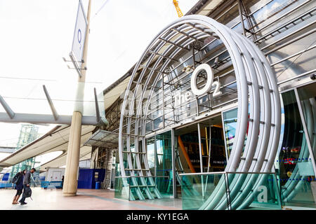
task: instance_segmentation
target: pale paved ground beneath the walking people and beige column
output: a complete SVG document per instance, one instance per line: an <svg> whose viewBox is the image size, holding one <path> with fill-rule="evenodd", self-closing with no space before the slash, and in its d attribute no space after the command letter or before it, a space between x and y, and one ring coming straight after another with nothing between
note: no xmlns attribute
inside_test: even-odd
<svg viewBox="0 0 316 224"><path fill-rule="evenodd" d="M60 189L32 188L27 204L12 204L16 190L0 190L0 210L178 210L181 200L162 199L129 202L114 198L112 190L78 189L76 197L62 197Z"/></svg>

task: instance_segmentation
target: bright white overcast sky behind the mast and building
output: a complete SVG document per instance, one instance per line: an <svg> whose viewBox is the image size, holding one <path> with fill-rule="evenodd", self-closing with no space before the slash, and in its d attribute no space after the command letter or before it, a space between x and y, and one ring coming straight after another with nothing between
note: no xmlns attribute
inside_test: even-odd
<svg viewBox="0 0 316 224"><path fill-rule="evenodd" d="M197 1L178 0L183 14ZM52 99L74 96L78 75L67 69L62 57L71 50L78 2L0 0L0 95L13 111L51 113L44 84ZM87 10L88 0L83 4ZM123 76L152 38L177 18L172 0L92 0L86 81L101 92ZM54 104L60 114L72 111L69 102ZM39 133L51 128L40 126ZM0 146L16 144L19 133L20 124L0 123Z"/></svg>

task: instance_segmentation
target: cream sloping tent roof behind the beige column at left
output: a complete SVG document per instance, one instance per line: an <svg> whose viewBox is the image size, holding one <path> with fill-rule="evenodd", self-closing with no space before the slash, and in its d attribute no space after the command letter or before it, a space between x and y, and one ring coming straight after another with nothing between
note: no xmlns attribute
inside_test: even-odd
<svg viewBox="0 0 316 224"><path fill-rule="evenodd" d="M91 147L84 146L84 141L90 137L91 132L95 129L94 126L84 125L81 127L81 157L87 155L87 153L91 152ZM54 162L47 162L45 165L42 165L43 169L41 171L45 171L44 167L61 167L65 165L65 158L67 155L68 141L70 135L70 126L56 126L50 132L44 134L43 137L32 141L27 146L20 148L20 150L15 151L8 157L4 158L4 160L0 161L0 167L11 167L12 165L18 164L24 160L29 158L33 158L37 155L44 155L46 153L51 153L55 151L62 151L63 153L56 159Z"/></svg>

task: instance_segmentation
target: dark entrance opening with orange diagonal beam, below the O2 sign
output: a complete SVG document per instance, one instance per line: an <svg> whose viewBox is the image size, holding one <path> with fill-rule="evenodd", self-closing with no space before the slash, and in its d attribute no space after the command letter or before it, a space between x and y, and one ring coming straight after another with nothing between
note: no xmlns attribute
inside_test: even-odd
<svg viewBox="0 0 316 224"><path fill-rule="evenodd" d="M176 130L180 173L222 172L227 164L221 116ZM202 157L202 162L201 162Z"/></svg>

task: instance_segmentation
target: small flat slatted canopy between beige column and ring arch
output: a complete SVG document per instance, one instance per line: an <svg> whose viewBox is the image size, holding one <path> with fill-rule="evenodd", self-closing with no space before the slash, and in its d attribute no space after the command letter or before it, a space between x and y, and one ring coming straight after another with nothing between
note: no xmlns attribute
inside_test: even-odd
<svg viewBox="0 0 316 224"><path fill-rule="evenodd" d="M119 147L119 133L98 130L85 143L84 146L100 146L105 148Z"/></svg>

